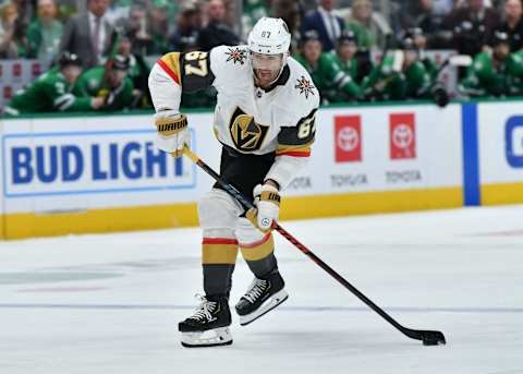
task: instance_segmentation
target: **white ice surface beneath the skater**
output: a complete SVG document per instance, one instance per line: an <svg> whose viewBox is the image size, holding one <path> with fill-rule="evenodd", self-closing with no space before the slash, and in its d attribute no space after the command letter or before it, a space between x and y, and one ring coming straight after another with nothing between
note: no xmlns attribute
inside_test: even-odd
<svg viewBox="0 0 523 374"><path fill-rule="evenodd" d="M523 373L523 206L283 222L391 327L282 238L290 299L230 347L185 349L199 230L0 243L1 374ZM231 304L252 278L240 260Z"/></svg>

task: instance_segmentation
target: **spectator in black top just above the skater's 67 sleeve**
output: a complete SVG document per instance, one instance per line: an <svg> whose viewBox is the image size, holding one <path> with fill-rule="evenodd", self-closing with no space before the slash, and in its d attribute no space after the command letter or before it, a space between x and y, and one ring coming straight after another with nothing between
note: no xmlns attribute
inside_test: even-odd
<svg viewBox="0 0 523 374"><path fill-rule="evenodd" d="M224 22L226 7L223 0L210 0L207 8L208 24L198 35L197 46L200 50L210 50L217 46L235 46L240 37Z"/></svg>

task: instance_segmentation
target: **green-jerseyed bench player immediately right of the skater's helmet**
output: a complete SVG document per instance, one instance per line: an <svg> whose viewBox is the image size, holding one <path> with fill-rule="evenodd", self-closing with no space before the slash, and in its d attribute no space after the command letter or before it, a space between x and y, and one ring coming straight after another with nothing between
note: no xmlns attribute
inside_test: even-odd
<svg viewBox="0 0 523 374"><path fill-rule="evenodd" d="M332 58L321 52L316 31L306 32L301 40L301 53L296 60L307 70L321 94L324 104L354 101L362 96L362 88Z"/></svg>

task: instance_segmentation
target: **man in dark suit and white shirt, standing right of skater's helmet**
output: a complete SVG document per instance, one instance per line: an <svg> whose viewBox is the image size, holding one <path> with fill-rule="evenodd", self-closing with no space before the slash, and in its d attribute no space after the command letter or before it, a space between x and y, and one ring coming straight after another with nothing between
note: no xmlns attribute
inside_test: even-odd
<svg viewBox="0 0 523 374"><path fill-rule="evenodd" d="M316 31L323 50L326 52L335 49L338 38L345 28L343 20L335 15L335 8L336 0L319 0L319 7L302 20L300 27L302 35L309 31Z"/></svg>

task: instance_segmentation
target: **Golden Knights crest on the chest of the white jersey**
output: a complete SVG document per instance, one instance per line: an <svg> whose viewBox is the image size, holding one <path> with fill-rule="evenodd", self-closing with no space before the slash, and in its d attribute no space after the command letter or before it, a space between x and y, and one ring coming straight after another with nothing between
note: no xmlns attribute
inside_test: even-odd
<svg viewBox="0 0 523 374"><path fill-rule="evenodd" d="M262 147L269 126L256 123L253 117L236 108L231 117L229 130L238 150L254 152Z"/></svg>

